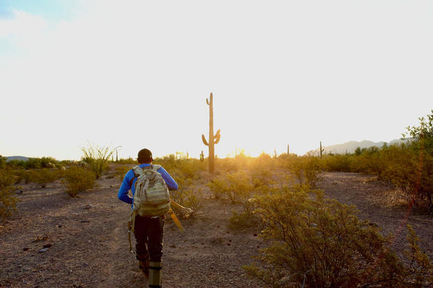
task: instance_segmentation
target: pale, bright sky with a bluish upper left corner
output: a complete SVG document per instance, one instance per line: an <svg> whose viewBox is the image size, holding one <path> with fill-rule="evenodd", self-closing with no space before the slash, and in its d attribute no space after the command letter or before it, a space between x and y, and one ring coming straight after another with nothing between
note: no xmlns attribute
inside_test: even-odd
<svg viewBox="0 0 433 288"><path fill-rule="evenodd" d="M433 109L433 1L0 0L0 154L302 155Z"/></svg>

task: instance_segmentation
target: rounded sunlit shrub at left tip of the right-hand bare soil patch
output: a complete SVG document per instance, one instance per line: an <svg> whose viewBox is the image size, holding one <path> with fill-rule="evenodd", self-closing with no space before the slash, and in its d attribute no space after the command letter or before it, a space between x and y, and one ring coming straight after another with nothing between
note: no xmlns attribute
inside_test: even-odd
<svg viewBox="0 0 433 288"><path fill-rule="evenodd" d="M288 163L288 170L301 185L314 187L320 180L321 163L314 156L296 157Z"/></svg>

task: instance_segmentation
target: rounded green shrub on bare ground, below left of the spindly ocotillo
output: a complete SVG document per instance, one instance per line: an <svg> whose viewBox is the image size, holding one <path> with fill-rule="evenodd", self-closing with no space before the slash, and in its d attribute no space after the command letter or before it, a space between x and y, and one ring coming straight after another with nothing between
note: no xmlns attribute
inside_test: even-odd
<svg viewBox="0 0 433 288"><path fill-rule="evenodd" d="M96 176L93 171L83 167L71 167L66 170L62 182L66 185L66 193L76 197L78 192L94 188Z"/></svg>

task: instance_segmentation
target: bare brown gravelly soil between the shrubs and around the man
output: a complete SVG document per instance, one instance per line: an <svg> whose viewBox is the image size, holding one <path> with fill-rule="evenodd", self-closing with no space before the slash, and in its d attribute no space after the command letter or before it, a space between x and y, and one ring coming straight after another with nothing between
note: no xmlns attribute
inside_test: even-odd
<svg viewBox="0 0 433 288"><path fill-rule="evenodd" d="M204 177L206 178L206 177ZM258 229L228 229L231 210L224 199L212 199L205 189L203 213L182 220L181 234L167 221L164 237L163 287L265 287L244 275L265 243ZM147 279L129 253L130 206L117 199L117 178L98 180L98 188L71 199L59 182L47 188L24 185L19 213L0 227L0 287L147 287ZM433 219L406 208L383 207L380 199L392 188L367 176L325 173L319 184L326 195L355 204L361 218L397 235L396 250L404 248L404 221L423 240L433 258ZM50 246L45 252L40 252Z"/></svg>

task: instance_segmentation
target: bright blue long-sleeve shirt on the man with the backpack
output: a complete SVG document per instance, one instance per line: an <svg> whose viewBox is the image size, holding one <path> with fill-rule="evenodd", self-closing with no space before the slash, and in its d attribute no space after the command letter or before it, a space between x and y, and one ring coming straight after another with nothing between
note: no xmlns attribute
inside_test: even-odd
<svg viewBox="0 0 433 288"><path fill-rule="evenodd" d="M150 164L140 164L140 167L147 167L147 166L150 166ZM170 176L170 174L168 174L166 169L161 167L156 171L159 172L161 174L161 176L163 177L164 181L166 181L168 189L177 190L178 187L177 187L177 183L176 183L175 179L173 179L172 176ZM134 180L132 182L132 185L130 185L129 183L131 183L132 179L134 179ZM124 177L124 181L122 182L122 185L120 186L119 193L117 193L117 198L119 198L119 200L122 200L123 202L126 202L128 204L131 204L131 206L133 204L133 197L130 197L128 195L128 191L131 190L132 195L135 195L135 181L137 181L137 178L135 178L135 174L133 172L133 169L131 169L131 170L129 170L128 173L126 173L126 175Z"/></svg>

